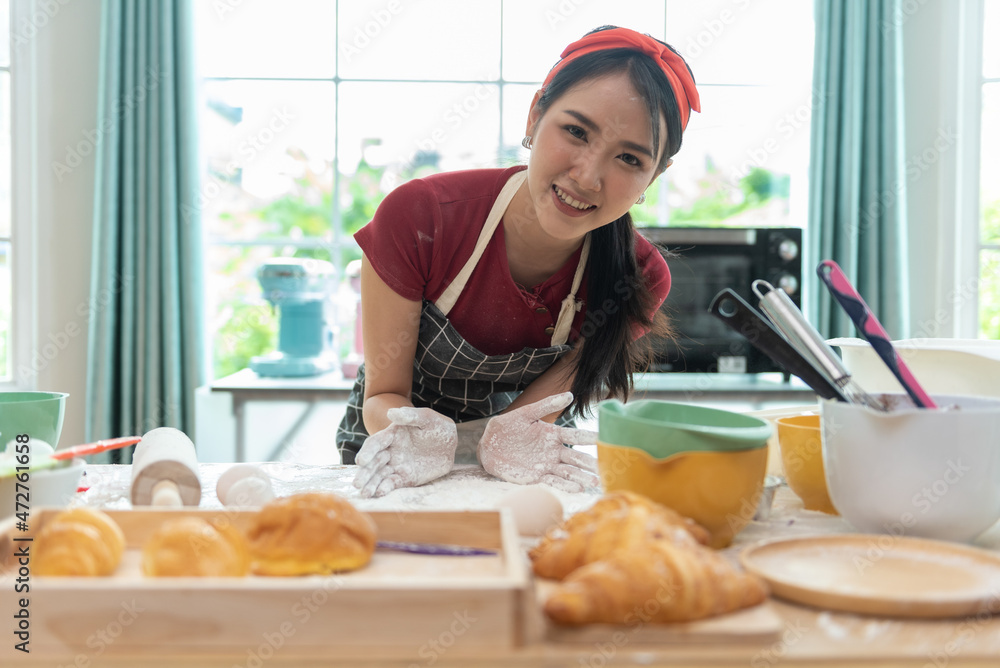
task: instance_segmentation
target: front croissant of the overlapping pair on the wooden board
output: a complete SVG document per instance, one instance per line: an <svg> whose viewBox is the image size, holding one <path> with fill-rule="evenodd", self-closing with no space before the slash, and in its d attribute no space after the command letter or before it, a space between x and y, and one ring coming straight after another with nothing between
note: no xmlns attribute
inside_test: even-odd
<svg viewBox="0 0 1000 668"><path fill-rule="evenodd" d="M649 541L583 566L559 583L545 613L566 625L683 622L763 602L754 575L698 544Z"/></svg>

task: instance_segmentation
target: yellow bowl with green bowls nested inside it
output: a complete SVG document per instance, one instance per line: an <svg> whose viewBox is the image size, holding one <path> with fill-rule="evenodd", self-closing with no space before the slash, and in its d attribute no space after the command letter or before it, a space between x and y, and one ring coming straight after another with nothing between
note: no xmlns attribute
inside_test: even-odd
<svg viewBox="0 0 1000 668"><path fill-rule="evenodd" d="M767 448L681 452L656 459L638 448L597 442L604 490L628 490L673 508L726 547L753 519L764 489Z"/></svg>

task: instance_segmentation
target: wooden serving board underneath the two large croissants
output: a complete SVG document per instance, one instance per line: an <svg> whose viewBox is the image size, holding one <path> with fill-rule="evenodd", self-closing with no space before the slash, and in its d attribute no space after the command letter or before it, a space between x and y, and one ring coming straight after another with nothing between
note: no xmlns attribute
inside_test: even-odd
<svg viewBox="0 0 1000 668"><path fill-rule="evenodd" d="M785 631L785 622L775 611L770 599L752 608L695 622L654 624L643 622L641 614L638 614L634 623L621 626L612 624L560 626L546 618L541 612L542 604L556 584L552 580L536 579L535 581L539 618L534 620L534 624L540 625L542 639L546 642L590 647L601 646L609 642L615 647L624 645L714 645L719 643L762 644L777 640Z"/></svg>

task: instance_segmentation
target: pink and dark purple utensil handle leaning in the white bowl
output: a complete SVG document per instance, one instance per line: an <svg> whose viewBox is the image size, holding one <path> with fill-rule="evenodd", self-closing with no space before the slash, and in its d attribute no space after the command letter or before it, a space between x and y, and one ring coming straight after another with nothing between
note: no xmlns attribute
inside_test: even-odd
<svg viewBox="0 0 1000 668"><path fill-rule="evenodd" d="M823 260L816 267L816 273L830 290L830 294L851 317L858 331L868 339L868 343L872 344L872 348L896 376L903 389L913 399L913 403L920 408L937 408L937 404L928 396L924 388L920 387L920 383L917 382L909 367L892 346L889 334L882 327L882 323L878 321L865 300L847 280L847 276L844 275L840 266L833 260Z"/></svg>

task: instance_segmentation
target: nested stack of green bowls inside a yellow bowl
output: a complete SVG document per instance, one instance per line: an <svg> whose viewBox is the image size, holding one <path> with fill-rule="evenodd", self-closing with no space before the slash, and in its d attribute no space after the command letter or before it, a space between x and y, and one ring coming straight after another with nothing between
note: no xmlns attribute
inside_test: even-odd
<svg viewBox="0 0 1000 668"><path fill-rule="evenodd" d="M765 420L718 409L605 401L598 409L601 484L673 508L705 527L712 547L725 547L757 511L772 431Z"/></svg>

